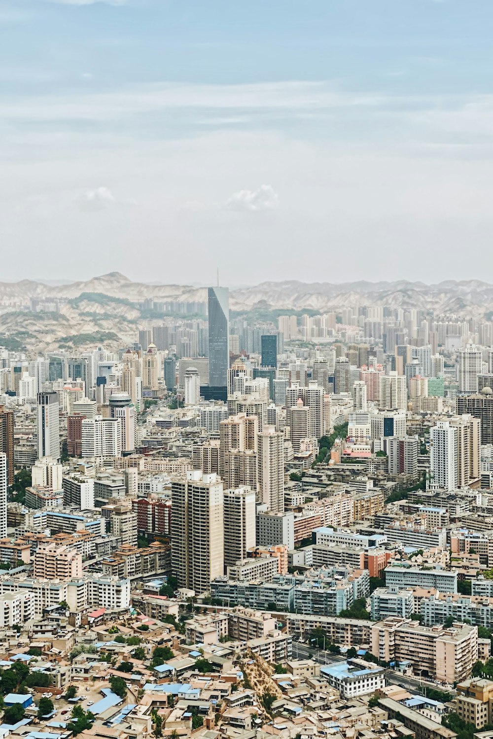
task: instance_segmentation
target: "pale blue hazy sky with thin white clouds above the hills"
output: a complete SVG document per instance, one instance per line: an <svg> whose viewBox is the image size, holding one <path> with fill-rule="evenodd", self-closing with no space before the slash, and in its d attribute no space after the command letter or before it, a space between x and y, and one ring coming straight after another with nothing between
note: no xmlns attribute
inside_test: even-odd
<svg viewBox="0 0 493 739"><path fill-rule="evenodd" d="M0 280L493 281L492 29L492 0L0 0Z"/></svg>

